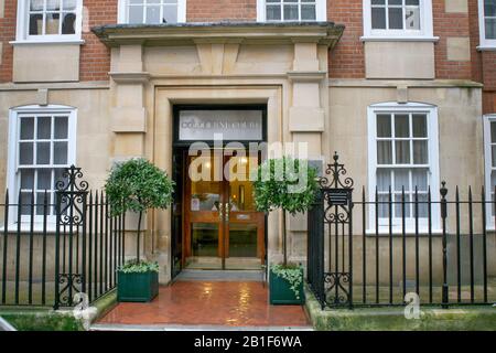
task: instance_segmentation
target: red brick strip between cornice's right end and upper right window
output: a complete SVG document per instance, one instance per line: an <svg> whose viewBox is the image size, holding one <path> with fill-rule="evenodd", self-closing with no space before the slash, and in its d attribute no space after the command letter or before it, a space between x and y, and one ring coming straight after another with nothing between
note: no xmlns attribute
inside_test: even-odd
<svg viewBox="0 0 496 353"><path fill-rule="evenodd" d="M365 77L362 0L327 0L327 19L346 26L343 38L330 53L330 77Z"/></svg>

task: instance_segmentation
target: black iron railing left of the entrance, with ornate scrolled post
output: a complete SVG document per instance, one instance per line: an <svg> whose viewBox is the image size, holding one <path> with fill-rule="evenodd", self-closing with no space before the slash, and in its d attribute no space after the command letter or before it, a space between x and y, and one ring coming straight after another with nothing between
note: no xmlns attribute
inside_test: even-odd
<svg viewBox="0 0 496 353"><path fill-rule="evenodd" d="M0 306L73 307L76 293L94 301L116 287L126 220L112 216L105 193L88 191L82 176L78 168L65 170L54 203L48 191L6 192Z"/></svg>

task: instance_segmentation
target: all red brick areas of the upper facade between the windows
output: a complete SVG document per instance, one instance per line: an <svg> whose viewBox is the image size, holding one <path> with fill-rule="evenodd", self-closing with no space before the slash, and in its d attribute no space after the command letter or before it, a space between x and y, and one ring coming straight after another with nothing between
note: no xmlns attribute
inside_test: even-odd
<svg viewBox="0 0 496 353"><path fill-rule="evenodd" d="M468 13L446 13L446 0L432 0L435 44L435 75L441 79L473 79L485 84L486 94L496 92L496 53L476 50L478 45L477 0L468 0ZM106 81L110 68L109 50L88 29L117 22L117 0L84 0L85 19L82 45L80 81ZM0 82L12 81L12 45L15 39L17 1L4 0L4 18L0 19L2 60ZM345 33L330 53L330 77L364 78L363 0L327 0L330 21L344 24ZM188 0L188 22L256 21L257 0ZM471 40L471 61L450 61L448 39ZM496 103L485 98L485 111L496 110Z"/></svg>

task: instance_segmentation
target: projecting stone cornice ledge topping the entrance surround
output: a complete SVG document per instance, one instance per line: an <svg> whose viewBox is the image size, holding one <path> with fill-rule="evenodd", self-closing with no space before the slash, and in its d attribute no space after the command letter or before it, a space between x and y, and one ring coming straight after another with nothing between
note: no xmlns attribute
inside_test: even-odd
<svg viewBox="0 0 496 353"><path fill-rule="evenodd" d="M335 25L332 22L112 24L93 28L91 31L110 47L127 44L184 45L198 42L247 44L311 42L332 47L341 39L344 25Z"/></svg>

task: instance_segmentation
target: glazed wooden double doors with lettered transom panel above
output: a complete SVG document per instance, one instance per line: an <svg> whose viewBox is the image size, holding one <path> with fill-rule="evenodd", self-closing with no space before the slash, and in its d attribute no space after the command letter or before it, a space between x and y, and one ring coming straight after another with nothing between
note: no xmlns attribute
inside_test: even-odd
<svg viewBox="0 0 496 353"><path fill-rule="evenodd" d="M174 107L173 278L182 269L260 270L265 264L266 215L256 210L250 181L261 154L229 146L266 141L266 118L263 105ZM190 153L197 142L203 147Z"/></svg>

